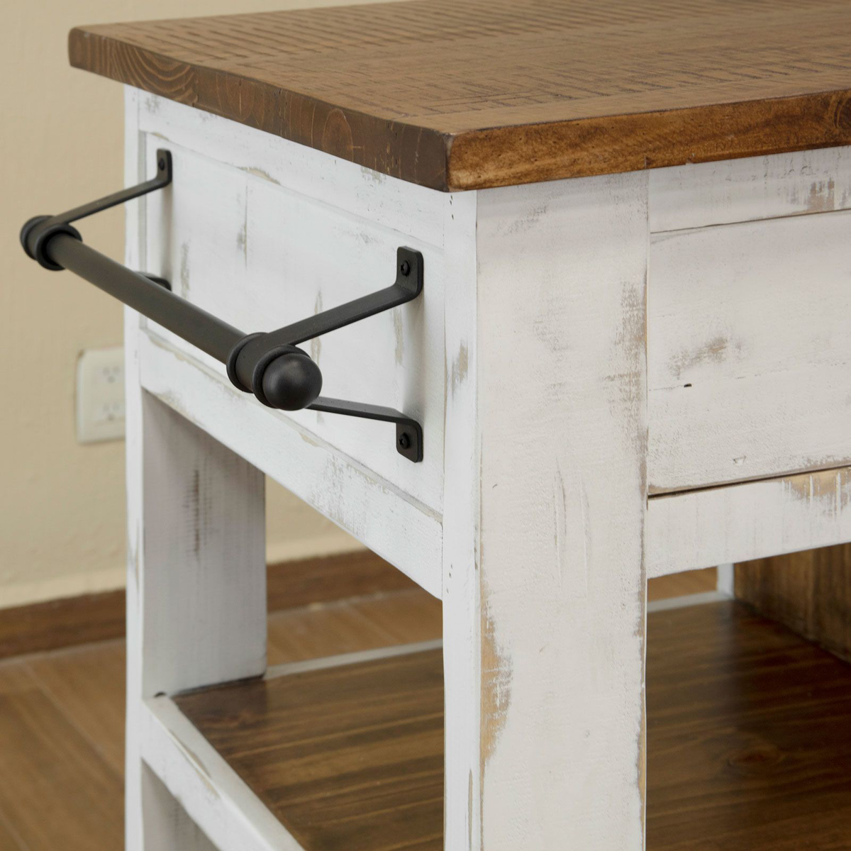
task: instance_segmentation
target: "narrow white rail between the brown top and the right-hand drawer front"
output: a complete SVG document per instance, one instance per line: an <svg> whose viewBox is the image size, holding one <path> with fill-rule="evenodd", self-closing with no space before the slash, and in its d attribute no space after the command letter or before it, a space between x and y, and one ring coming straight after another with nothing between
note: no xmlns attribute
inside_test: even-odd
<svg viewBox="0 0 851 851"><path fill-rule="evenodd" d="M851 208L851 147L649 172L651 231Z"/></svg>

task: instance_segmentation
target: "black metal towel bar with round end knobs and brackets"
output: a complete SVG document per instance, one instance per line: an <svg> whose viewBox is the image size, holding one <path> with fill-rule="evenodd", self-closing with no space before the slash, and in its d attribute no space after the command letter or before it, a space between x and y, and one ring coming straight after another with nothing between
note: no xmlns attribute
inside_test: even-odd
<svg viewBox="0 0 851 851"><path fill-rule="evenodd" d="M218 317L171 292L163 278L135 272L83 243L71 222L132 198L168 186L171 155L157 151L157 176L97 201L54 216L36 216L20 231L20 242L45 269L67 269L178 334L227 366L227 374L241 391L282 410L324 411L368 420L396 423L396 448L412 461L422 460L420 423L394 408L347 402L319 395L322 373L299 343L390 310L415 299L423 288L423 257L411 248L397 248L396 280L391 286L345 305L332 307L277 331L243 334Z"/></svg>

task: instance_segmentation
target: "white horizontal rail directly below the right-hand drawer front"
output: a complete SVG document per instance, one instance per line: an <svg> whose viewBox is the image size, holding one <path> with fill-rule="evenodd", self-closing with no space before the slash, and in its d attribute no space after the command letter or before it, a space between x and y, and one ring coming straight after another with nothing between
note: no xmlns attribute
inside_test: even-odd
<svg viewBox="0 0 851 851"><path fill-rule="evenodd" d="M851 468L649 500L648 576L851 541Z"/></svg>

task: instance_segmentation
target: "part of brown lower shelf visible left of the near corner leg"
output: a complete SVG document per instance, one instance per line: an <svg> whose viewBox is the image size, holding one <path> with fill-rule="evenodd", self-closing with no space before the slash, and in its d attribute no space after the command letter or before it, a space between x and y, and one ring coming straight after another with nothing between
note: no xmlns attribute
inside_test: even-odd
<svg viewBox="0 0 851 851"><path fill-rule="evenodd" d="M176 703L304 848L443 848L443 654Z"/></svg>

